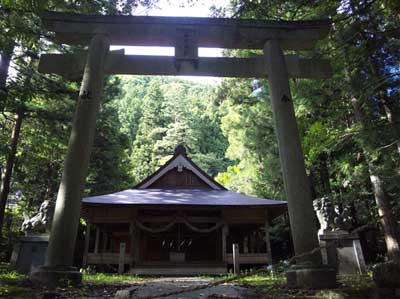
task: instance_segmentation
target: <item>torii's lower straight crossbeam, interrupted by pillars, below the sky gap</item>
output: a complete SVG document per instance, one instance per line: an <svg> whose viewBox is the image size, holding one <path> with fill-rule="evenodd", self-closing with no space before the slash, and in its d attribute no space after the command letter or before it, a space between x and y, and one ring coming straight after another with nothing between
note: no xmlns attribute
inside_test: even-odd
<svg viewBox="0 0 400 299"><path fill-rule="evenodd" d="M39 71L58 74L67 79L82 76L86 55L44 54L40 58ZM328 60L285 57L289 78L326 79L332 70ZM110 52L105 61L106 74L163 75L163 76L212 76L236 78L268 77L264 57L226 58L199 57L180 60L167 56L123 55Z"/></svg>

